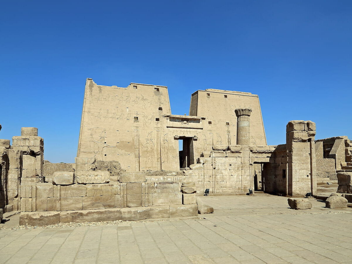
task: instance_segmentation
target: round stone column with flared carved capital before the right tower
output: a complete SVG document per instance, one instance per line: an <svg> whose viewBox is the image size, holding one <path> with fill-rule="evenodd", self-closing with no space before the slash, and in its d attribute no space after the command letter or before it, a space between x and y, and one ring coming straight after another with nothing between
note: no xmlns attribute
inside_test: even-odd
<svg viewBox="0 0 352 264"><path fill-rule="evenodd" d="M250 145L250 119L252 109L243 108L235 110L237 116L237 145Z"/></svg>

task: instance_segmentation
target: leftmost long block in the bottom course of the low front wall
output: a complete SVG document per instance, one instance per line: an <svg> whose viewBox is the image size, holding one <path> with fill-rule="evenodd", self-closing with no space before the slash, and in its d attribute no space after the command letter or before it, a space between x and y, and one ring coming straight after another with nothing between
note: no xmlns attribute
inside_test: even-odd
<svg viewBox="0 0 352 264"><path fill-rule="evenodd" d="M60 222L59 212L21 212L20 225L46 226L55 225Z"/></svg>

